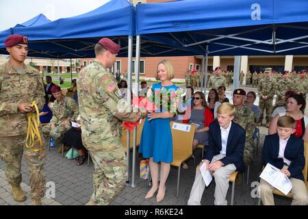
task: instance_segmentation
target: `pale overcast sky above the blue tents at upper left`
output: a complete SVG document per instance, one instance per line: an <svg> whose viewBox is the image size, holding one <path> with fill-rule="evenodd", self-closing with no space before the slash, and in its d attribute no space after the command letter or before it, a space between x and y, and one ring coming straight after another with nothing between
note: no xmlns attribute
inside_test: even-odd
<svg viewBox="0 0 308 219"><path fill-rule="evenodd" d="M0 0L0 31L24 23L38 14L51 21L84 14L110 0Z"/></svg>

